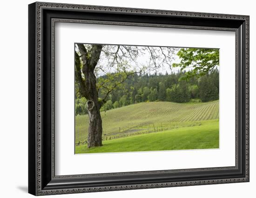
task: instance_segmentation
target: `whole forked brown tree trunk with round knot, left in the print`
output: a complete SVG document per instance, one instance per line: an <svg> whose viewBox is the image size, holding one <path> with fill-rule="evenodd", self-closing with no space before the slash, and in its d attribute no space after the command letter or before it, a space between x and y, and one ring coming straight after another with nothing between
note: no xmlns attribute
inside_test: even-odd
<svg viewBox="0 0 256 198"><path fill-rule="evenodd" d="M98 90L96 86L96 76L94 75L95 66L98 63L101 55L102 45L92 45L90 55L83 44L77 44L81 53L82 72L85 78L81 75L81 62L78 54L76 54L76 79L80 84L81 94L88 100L88 148L102 145L102 120L101 106L98 101Z"/></svg>

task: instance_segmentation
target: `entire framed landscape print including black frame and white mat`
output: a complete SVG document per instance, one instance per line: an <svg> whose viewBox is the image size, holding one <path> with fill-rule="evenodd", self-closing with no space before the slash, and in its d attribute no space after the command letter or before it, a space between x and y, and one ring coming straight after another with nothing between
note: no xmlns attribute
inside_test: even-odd
<svg viewBox="0 0 256 198"><path fill-rule="evenodd" d="M249 16L28 15L29 193L249 182Z"/></svg>

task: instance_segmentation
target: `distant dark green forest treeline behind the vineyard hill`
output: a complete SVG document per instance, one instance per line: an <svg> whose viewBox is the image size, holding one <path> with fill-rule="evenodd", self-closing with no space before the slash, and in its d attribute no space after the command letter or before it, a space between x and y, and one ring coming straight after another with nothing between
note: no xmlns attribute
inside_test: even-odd
<svg viewBox="0 0 256 198"><path fill-rule="evenodd" d="M184 103L189 101L208 102L219 99L219 71L217 69L199 79L194 77L188 81L179 80L183 74L182 72L134 74L123 83L122 89L113 90L109 94L108 101L101 108L101 111L148 101ZM101 98L101 90L99 97ZM76 115L87 113L85 98L79 96L76 98L75 113Z"/></svg>

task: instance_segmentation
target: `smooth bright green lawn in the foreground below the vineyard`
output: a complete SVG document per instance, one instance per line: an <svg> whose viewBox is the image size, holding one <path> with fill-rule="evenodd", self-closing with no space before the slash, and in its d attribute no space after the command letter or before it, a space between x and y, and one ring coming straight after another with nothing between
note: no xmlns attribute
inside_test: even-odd
<svg viewBox="0 0 256 198"><path fill-rule="evenodd" d="M75 147L75 153L136 152L219 148L219 120L204 120L201 125L180 127L163 132L103 141L103 146Z"/></svg>

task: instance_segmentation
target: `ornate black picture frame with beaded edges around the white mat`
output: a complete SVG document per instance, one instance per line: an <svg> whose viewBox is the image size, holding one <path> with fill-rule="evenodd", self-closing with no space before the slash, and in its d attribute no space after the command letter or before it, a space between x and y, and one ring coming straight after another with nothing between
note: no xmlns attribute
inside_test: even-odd
<svg viewBox="0 0 256 198"><path fill-rule="evenodd" d="M35 2L28 6L28 192L33 195L249 182L249 16ZM55 175L54 24L93 23L236 33L236 165Z"/></svg>

